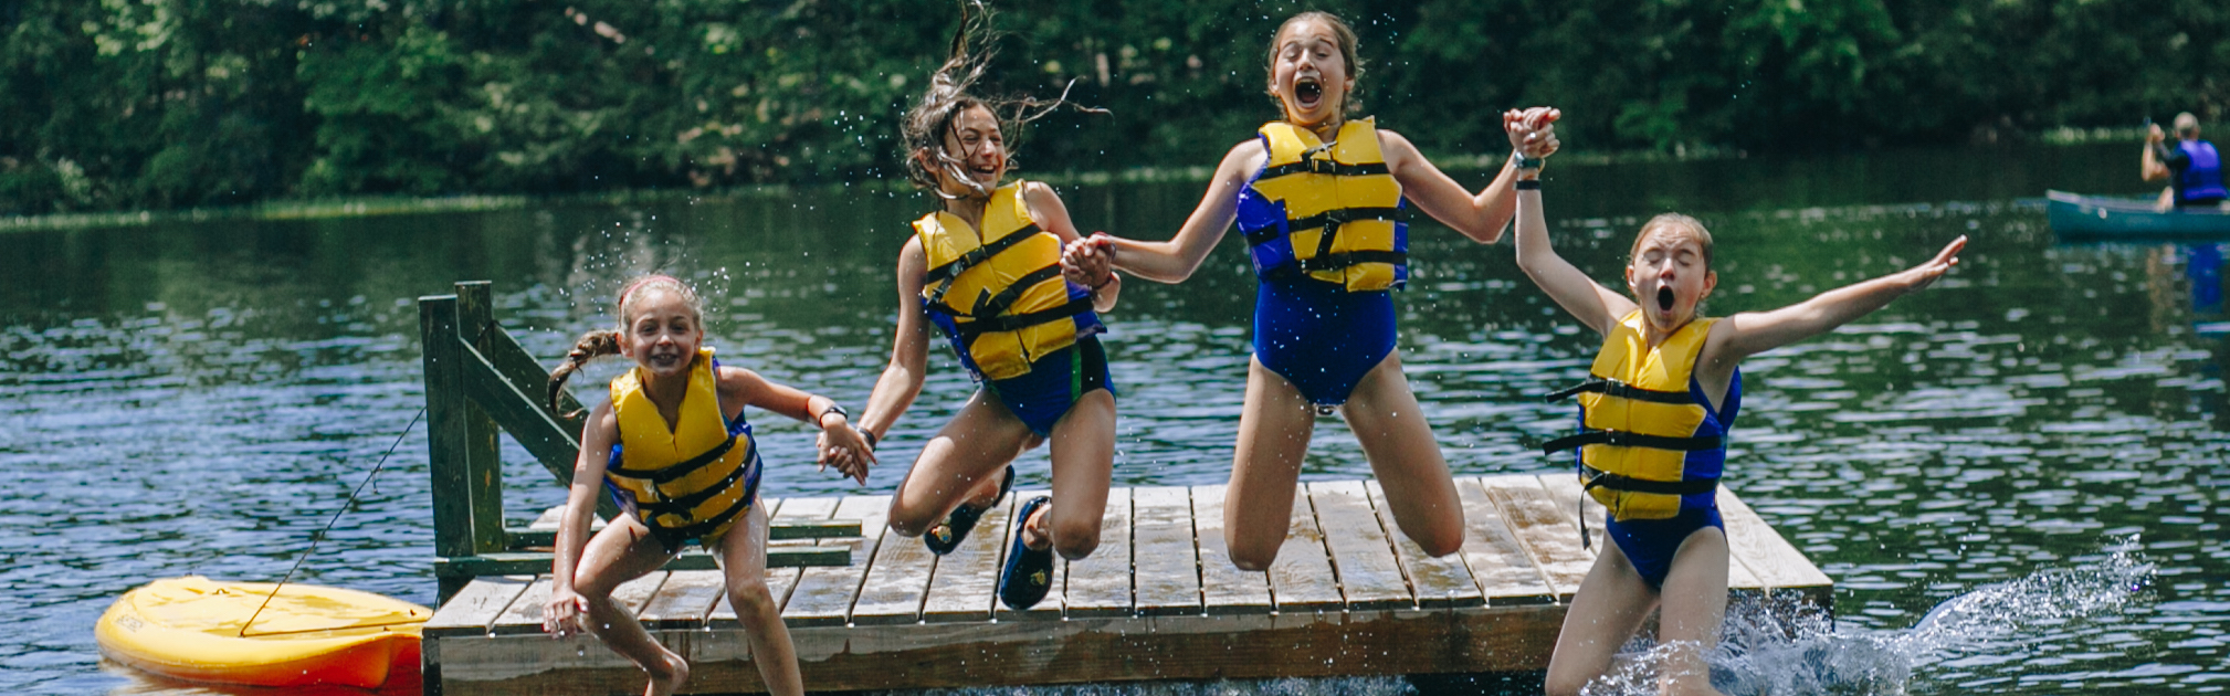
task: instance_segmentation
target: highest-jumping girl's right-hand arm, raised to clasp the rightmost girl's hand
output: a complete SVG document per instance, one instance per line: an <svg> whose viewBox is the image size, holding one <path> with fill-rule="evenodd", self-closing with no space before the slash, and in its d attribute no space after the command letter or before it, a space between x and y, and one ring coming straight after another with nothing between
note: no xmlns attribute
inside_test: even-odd
<svg viewBox="0 0 2230 696"><path fill-rule="evenodd" d="M1550 107L1525 109L1521 120L1503 118L1505 132L1510 134L1512 152L1530 158L1543 158L1557 152L1557 118L1563 112ZM1400 181L1403 196L1416 203L1432 219L1463 232L1478 243L1496 243L1503 239L1503 228L1510 225L1510 214L1516 212L1516 192L1512 185L1519 181L1516 163L1505 163L1503 172L1494 176L1485 190L1476 196L1465 192L1461 183L1434 167L1409 138L1396 132L1378 132L1378 147L1387 161L1387 172L1394 181Z"/></svg>

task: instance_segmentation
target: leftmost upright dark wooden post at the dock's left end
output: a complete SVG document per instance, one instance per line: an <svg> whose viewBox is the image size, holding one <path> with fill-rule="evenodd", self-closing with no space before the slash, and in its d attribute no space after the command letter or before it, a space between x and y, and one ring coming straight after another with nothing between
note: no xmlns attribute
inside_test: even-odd
<svg viewBox="0 0 2230 696"><path fill-rule="evenodd" d="M426 357L426 455L433 473L433 553L477 555L471 506L471 428L466 426L464 361L457 355L457 297L419 297L419 346ZM439 578L442 600L471 578Z"/></svg>

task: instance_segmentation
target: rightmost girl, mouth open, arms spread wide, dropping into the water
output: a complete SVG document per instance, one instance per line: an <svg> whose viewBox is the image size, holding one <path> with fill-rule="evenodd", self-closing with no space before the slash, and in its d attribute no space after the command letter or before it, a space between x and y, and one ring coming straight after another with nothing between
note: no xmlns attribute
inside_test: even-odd
<svg viewBox="0 0 2230 696"><path fill-rule="evenodd" d="M1523 114L1505 114L1521 120ZM1768 312L1704 319L1697 303L1719 277L1710 232L1690 216L1659 214L1635 234L1626 290L1597 286L1557 257L1541 214L1539 172L1519 176L1519 268L1581 326L1603 335L1579 397L1579 433L1548 442L1577 448L1581 486L1608 506L1612 540L1579 582L1548 665L1548 694L1579 694L1657 607L1657 638L1672 647L1666 694L1717 694L1706 658L1726 613L1726 526L1717 489L1726 435L1742 410L1742 359L1833 330L1927 288L1967 248L1929 263L1835 288Z"/></svg>

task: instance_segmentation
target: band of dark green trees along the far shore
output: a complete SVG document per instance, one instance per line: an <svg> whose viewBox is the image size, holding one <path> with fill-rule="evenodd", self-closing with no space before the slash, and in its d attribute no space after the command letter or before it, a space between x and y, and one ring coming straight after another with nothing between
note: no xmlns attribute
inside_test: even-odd
<svg viewBox="0 0 2230 696"><path fill-rule="evenodd" d="M1276 118L1300 9L1363 36L1360 100L1492 161L1840 149L2230 116L2214 0L999 2L990 94L1070 89L1024 172L1213 165ZM0 0L0 212L330 194L901 178L896 120L959 18L919 0Z"/></svg>

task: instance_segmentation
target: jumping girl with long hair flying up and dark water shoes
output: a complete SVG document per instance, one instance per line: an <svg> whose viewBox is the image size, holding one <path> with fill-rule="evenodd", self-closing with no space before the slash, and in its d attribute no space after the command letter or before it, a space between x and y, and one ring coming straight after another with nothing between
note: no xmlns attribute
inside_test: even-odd
<svg viewBox="0 0 2230 696"><path fill-rule="evenodd" d="M890 433L921 395L930 332L943 332L979 388L923 446L890 500L890 529L923 535L930 551L959 547L977 518L1015 482L1010 462L1053 442L1053 497L1015 515L999 600L1037 605L1050 589L1053 553L1077 560L1099 547L1115 466L1115 390L1102 323L1122 281L1106 259L1061 263L1077 239L1053 187L1006 183L1006 138L1059 105L1004 103L970 94L988 56L970 38L988 18L963 4L952 54L928 94L905 112L905 167L941 205L912 223L899 250L899 335L874 384L861 428L870 444Z"/></svg>

